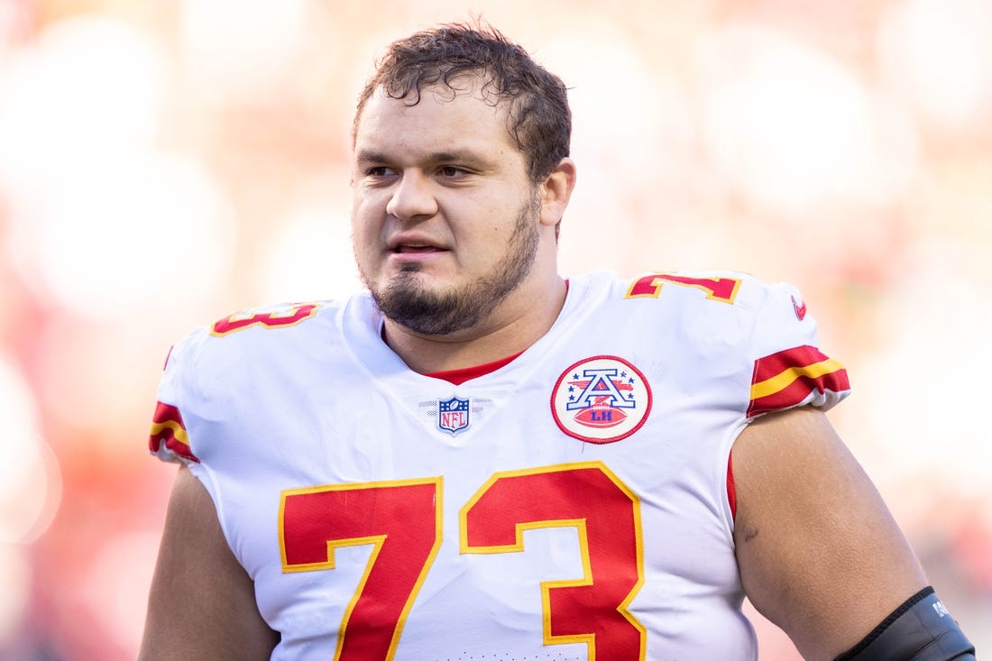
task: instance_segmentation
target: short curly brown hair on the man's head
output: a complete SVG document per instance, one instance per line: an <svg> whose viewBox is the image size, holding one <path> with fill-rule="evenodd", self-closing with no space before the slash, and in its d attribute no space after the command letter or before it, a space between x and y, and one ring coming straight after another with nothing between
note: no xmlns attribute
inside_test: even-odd
<svg viewBox="0 0 992 661"><path fill-rule="evenodd" d="M416 105L431 85L457 93L461 88L455 80L465 75L483 77L482 95L493 104L509 102L507 130L524 154L528 176L535 184L547 179L568 156L567 89L557 75L489 25L449 23L393 42L358 97L352 144L362 110L377 89Z"/></svg>

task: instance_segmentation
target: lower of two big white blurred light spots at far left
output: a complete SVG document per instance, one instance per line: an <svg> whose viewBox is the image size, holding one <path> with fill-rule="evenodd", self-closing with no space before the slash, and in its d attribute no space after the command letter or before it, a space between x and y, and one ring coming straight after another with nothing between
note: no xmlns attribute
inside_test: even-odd
<svg viewBox="0 0 992 661"><path fill-rule="evenodd" d="M189 305L223 284L233 259L225 199L201 164L175 155L80 170L14 220L25 281L103 320Z"/></svg>

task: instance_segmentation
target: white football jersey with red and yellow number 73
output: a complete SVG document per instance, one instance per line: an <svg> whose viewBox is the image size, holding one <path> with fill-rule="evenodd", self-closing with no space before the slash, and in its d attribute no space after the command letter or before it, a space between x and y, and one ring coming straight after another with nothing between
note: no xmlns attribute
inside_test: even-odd
<svg viewBox="0 0 992 661"><path fill-rule="evenodd" d="M151 450L205 485L273 659L737 661L727 464L847 376L788 285L569 281L555 326L459 385L368 295L253 310L168 361Z"/></svg>

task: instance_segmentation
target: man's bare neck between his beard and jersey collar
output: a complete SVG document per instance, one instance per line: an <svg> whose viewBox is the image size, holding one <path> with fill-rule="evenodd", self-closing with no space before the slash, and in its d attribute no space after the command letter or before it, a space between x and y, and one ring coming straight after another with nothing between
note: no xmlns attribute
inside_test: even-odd
<svg viewBox="0 0 992 661"><path fill-rule="evenodd" d="M448 335L424 335L387 319L386 343L420 373L474 367L526 350L558 319L567 285L556 276L538 296L515 292L480 324Z"/></svg>

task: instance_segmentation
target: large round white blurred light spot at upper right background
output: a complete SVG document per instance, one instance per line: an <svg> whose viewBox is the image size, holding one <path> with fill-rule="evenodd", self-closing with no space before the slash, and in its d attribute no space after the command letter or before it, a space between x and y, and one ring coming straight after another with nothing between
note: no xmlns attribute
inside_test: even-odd
<svg viewBox="0 0 992 661"><path fill-rule="evenodd" d="M848 67L769 28L726 28L699 48L703 139L747 196L802 219L823 204L901 193L884 167L897 162L886 158L885 118ZM900 165L905 181L913 160Z"/></svg>

